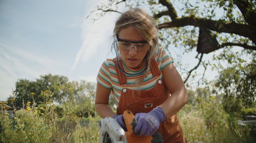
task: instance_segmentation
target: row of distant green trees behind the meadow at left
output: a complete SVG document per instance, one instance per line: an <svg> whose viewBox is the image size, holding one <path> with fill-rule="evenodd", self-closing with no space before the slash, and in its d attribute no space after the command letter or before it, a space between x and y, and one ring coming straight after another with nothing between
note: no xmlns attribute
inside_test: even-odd
<svg viewBox="0 0 256 143"><path fill-rule="evenodd" d="M16 89L14 91L15 102L17 107L22 107L22 100L24 104L27 101L32 103L31 92L35 102L38 104L43 101L40 93L45 90L53 92L52 99L54 102L62 103L64 101L84 101L84 99L94 102L95 96L95 83L86 82L82 80L70 82L66 76L62 75L41 75L36 81L29 81L27 79L18 79L16 82ZM13 96L10 96L13 98ZM8 100L9 100L8 99Z"/></svg>

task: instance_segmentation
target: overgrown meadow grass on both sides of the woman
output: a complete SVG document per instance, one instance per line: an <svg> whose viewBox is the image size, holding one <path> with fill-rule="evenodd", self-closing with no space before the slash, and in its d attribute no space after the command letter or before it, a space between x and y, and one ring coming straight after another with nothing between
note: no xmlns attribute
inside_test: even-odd
<svg viewBox="0 0 256 143"><path fill-rule="evenodd" d="M97 116L90 100L54 105L50 91L42 92L41 96L44 102L40 105L33 101L32 106L30 102L26 104L26 109L14 109L14 118L5 115L6 107L1 104L0 142L99 142L101 118ZM15 108L15 104L12 105ZM255 126L237 125L237 119L224 112L215 97L199 100L195 106L185 105L178 115L188 142L255 141L252 134L256 133Z"/></svg>

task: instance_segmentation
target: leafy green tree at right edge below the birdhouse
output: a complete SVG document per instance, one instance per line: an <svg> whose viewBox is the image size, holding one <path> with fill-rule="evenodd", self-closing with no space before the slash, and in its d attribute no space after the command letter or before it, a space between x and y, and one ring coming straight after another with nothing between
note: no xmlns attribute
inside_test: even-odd
<svg viewBox="0 0 256 143"><path fill-rule="evenodd" d="M234 56L230 60L232 66L219 71L215 85L222 91L222 103L227 112L256 107L256 52L252 55L247 60Z"/></svg>

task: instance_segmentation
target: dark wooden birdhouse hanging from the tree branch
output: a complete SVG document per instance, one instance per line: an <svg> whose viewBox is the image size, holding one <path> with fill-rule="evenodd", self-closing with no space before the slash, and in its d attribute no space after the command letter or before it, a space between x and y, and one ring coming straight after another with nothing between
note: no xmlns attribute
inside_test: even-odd
<svg viewBox="0 0 256 143"><path fill-rule="evenodd" d="M197 41L197 52L209 53L219 49L219 44L216 39L216 35L207 29L200 28Z"/></svg>

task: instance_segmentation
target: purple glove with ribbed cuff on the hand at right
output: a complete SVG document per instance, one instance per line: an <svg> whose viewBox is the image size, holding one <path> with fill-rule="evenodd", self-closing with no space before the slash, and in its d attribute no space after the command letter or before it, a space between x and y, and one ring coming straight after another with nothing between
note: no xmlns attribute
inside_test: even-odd
<svg viewBox="0 0 256 143"><path fill-rule="evenodd" d="M134 134L145 136L154 134L160 126L160 123L164 122L166 114L161 107L156 107L148 113L137 113L134 117L134 121L131 124L135 125L134 122L138 121L133 126Z"/></svg>

